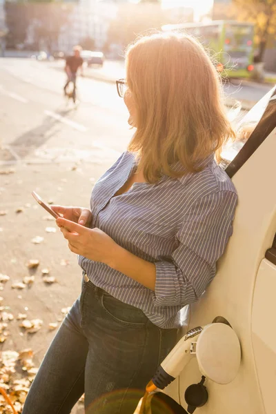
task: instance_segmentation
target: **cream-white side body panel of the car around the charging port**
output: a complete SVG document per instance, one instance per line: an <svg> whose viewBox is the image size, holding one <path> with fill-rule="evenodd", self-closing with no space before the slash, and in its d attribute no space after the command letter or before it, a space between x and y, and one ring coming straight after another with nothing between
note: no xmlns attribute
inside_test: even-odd
<svg viewBox="0 0 276 414"><path fill-rule="evenodd" d="M239 197L233 236L217 264L215 279L191 306L190 322L182 331L183 335L223 316L242 346L242 363L233 382L219 385L206 380L209 399L199 408L202 414L275 412L276 334L271 331L276 314L276 270L264 257L276 233L276 128L261 142L233 176ZM165 392L173 397L178 388L179 402L187 409L186 388L200 379L194 358L182 371L179 383L172 383Z"/></svg>

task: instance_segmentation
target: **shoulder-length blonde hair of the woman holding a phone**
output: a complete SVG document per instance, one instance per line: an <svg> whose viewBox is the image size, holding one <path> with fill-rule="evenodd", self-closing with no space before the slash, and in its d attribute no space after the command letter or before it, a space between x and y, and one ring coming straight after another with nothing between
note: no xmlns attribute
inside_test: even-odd
<svg viewBox="0 0 276 414"><path fill-rule="evenodd" d="M137 152L146 181L197 172L214 152L219 159L235 132L224 113L219 75L197 40L179 32L141 37L128 47L126 72L137 127L128 150Z"/></svg>

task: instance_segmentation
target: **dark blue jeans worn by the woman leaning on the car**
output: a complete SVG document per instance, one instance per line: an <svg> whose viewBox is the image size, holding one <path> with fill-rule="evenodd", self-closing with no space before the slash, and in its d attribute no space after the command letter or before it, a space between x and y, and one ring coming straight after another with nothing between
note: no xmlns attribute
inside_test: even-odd
<svg viewBox="0 0 276 414"><path fill-rule="evenodd" d="M177 341L134 306L83 279L39 368L22 414L68 414L85 393L89 414L132 414Z"/></svg>

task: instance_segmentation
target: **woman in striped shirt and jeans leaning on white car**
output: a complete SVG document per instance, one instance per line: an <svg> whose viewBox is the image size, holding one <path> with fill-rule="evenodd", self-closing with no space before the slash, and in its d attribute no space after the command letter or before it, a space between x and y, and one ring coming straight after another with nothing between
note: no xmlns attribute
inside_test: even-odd
<svg viewBox="0 0 276 414"><path fill-rule="evenodd" d="M133 413L232 234L237 193L215 152L234 132L208 55L185 34L155 34L128 48L126 72L128 150L97 181L90 210L54 207L82 290L23 414L70 413L83 392L86 413Z"/></svg>

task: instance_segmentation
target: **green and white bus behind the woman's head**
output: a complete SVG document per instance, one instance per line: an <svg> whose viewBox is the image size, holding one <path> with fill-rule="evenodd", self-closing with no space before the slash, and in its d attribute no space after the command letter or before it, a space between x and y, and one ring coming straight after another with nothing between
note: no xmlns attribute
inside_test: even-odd
<svg viewBox="0 0 276 414"><path fill-rule="evenodd" d="M196 37L215 55L217 70L225 77L250 77L254 70L254 24L232 20L162 26L164 32L184 31Z"/></svg>

